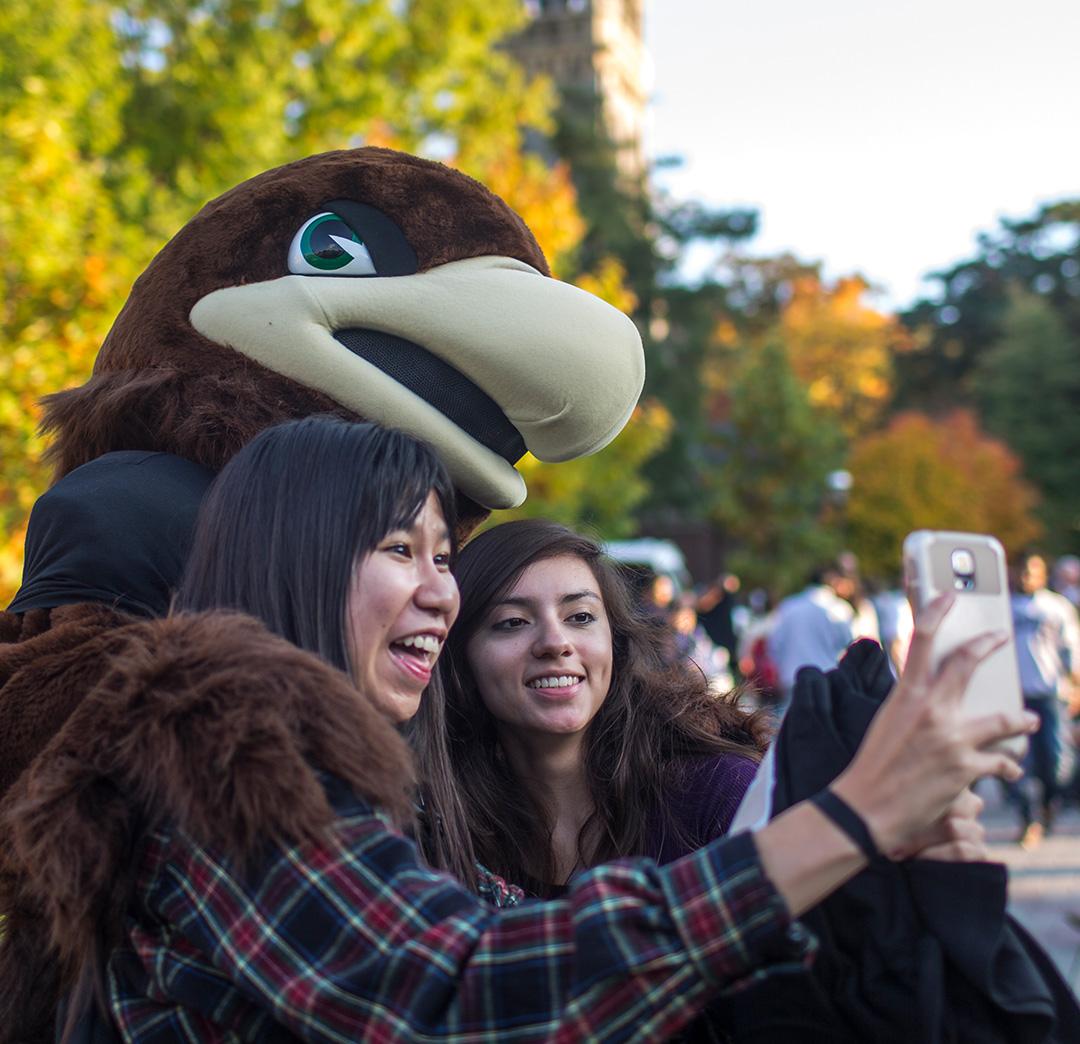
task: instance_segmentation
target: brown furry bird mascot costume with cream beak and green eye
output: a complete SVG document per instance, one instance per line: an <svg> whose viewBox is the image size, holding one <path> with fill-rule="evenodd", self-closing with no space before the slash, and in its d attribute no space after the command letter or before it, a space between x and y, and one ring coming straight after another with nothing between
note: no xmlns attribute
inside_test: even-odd
<svg viewBox="0 0 1080 1044"><path fill-rule="evenodd" d="M562 461L610 442L643 380L633 323L551 277L524 221L438 163L376 148L310 157L176 233L91 379L46 402L57 480L0 614L0 1041L51 1040L71 970L117 930L134 800L118 791L153 787L150 762L175 757L162 774L187 789L161 784L147 802L245 837L302 837L325 821L306 761L391 809L411 785L404 745L374 713L366 747L342 745L335 713L356 701L338 681L322 678L339 696L325 720L305 716L289 672L296 657L320 668L254 622L139 622L165 614L214 473L282 421L374 421L440 455L464 535L525 499L514 465L526 451ZM239 647L266 667L266 697L240 723L190 674L192 655ZM245 729L276 737L280 772L245 760Z"/></svg>

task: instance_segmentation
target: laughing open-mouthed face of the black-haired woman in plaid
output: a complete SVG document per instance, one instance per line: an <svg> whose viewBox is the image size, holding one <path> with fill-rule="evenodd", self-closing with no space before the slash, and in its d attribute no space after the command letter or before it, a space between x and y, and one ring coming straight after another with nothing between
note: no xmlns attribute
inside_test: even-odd
<svg viewBox="0 0 1080 1044"><path fill-rule="evenodd" d="M416 714L458 604L450 534L430 493L410 526L356 560L346 601L354 680L394 721Z"/></svg>

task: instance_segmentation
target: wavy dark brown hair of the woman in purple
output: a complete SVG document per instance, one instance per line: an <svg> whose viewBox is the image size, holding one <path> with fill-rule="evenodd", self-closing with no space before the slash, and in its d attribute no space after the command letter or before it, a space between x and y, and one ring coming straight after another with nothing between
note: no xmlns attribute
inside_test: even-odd
<svg viewBox="0 0 1080 1044"><path fill-rule="evenodd" d="M613 647L611 684L585 731L594 811L578 837L583 865L646 854L657 833L688 845L704 843L705 838L685 837L685 826L672 814L673 788L692 758L740 754L759 759L768 733L764 715L747 715L733 696L711 693L700 670L671 665L663 636L594 541L543 519L481 533L455 566L461 611L440 661L450 765L476 857L541 895L554 883L551 815L542 796L523 786L502 756L465 647L528 566L564 555L581 559L595 577Z"/></svg>

